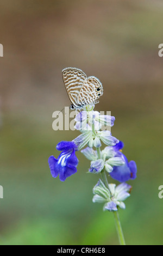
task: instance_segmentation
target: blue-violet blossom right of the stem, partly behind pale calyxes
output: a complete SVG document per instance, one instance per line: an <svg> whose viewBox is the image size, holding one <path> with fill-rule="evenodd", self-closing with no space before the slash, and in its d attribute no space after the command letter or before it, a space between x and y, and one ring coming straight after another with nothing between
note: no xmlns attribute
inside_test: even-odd
<svg viewBox="0 0 163 256"><path fill-rule="evenodd" d="M125 163L122 166L114 166L110 176L120 182L126 182L130 179L134 180L137 172L136 163L135 161L128 162L127 157L122 154L123 142L120 141L112 148L115 150L116 156L123 156Z"/></svg>

